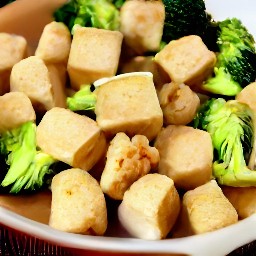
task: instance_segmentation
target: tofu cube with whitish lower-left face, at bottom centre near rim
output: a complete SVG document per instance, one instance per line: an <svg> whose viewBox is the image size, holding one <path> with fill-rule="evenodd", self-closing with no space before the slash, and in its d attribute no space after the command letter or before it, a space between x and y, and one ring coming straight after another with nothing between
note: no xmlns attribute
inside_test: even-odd
<svg viewBox="0 0 256 256"><path fill-rule="evenodd" d="M160 240L171 231L180 211L180 198L173 181L159 173L135 181L118 207L118 218L132 235Z"/></svg>

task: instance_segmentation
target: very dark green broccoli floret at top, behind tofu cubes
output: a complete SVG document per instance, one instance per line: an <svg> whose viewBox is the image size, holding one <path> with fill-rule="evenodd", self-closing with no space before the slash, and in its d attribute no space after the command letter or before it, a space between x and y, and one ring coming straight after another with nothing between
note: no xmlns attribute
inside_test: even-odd
<svg viewBox="0 0 256 256"><path fill-rule="evenodd" d="M163 0L165 21L163 41L187 35L203 37L208 26L204 0Z"/></svg>

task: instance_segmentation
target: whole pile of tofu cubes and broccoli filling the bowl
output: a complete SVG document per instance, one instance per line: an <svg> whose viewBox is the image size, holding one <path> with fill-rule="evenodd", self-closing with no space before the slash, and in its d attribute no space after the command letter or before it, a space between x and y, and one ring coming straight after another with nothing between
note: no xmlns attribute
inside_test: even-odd
<svg viewBox="0 0 256 256"><path fill-rule="evenodd" d="M203 0L71 0L32 54L18 34L0 44L0 191L49 189L51 227L104 235L106 200L149 240L256 212L256 50L239 19Z"/></svg>

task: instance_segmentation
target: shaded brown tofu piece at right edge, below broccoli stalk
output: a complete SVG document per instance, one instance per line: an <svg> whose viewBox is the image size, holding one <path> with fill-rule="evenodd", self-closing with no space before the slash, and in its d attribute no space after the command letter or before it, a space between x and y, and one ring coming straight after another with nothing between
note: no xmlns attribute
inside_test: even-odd
<svg viewBox="0 0 256 256"><path fill-rule="evenodd" d="M222 187L222 191L236 209L240 219L256 213L256 187Z"/></svg>

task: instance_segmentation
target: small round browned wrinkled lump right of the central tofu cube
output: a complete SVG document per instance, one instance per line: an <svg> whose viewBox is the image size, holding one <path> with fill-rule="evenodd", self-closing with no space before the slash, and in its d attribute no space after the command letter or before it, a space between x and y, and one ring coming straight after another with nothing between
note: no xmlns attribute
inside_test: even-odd
<svg viewBox="0 0 256 256"><path fill-rule="evenodd" d="M165 125L187 125L200 106L198 95L185 84L164 84L158 94Z"/></svg>

